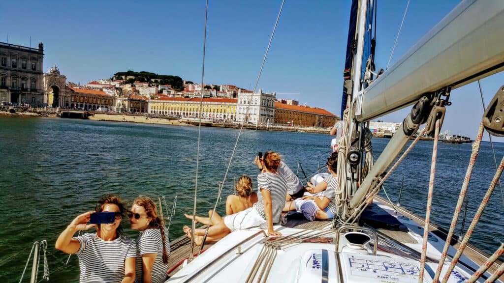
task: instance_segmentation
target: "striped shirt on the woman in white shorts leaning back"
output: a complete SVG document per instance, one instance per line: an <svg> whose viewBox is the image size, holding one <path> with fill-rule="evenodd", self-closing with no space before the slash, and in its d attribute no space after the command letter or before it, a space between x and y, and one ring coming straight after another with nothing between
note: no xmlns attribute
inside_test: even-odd
<svg viewBox="0 0 504 283"><path fill-rule="evenodd" d="M285 196L287 195L288 189L284 175L280 173L280 171L277 171L276 174L270 172L261 173L257 176L257 186L259 190L265 189L270 191L273 223L278 223L285 205ZM266 220L263 194L258 193L257 196L258 202L254 203L254 208L258 211L259 215Z"/></svg>

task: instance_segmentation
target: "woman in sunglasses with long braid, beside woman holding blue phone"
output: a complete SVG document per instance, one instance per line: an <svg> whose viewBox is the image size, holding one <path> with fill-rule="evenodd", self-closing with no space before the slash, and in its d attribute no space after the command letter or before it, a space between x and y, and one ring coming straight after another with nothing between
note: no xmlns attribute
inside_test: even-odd
<svg viewBox="0 0 504 283"><path fill-rule="evenodd" d="M137 283L164 282L168 271L170 242L156 204L147 196L133 201L128 213L131 229L139 230L137 239Z"/></svg>

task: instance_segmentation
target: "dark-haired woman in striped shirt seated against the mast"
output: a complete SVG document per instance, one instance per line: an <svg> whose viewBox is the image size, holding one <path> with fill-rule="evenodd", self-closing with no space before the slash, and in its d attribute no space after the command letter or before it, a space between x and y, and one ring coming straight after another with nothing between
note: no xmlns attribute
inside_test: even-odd
<svg viewBox="0 0 504 283"><path fill-rule="evenodd" d="M308 216L314 214L314 218L319 220L334 219L337 214L336 207L336 192L338 191L338 176L336 174L338 170L338 154L335 152L327 160L327 169L331 173L331 178L327 182L327 189L323 191L321 196L304 196L302 199L296 199L294 201L288 201L285 203L283 211L297 210L303 213L308 220ZM321 182L326 183L326 181ZM316 212L313 210L313 205L309 205L307 201L313 201L317 206ZM304 211L308 209L309 211Z"/></svg>

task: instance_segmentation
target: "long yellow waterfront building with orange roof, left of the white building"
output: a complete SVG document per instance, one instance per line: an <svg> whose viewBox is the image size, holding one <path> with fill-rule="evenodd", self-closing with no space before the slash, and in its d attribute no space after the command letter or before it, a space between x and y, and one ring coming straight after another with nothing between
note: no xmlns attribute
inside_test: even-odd
<svg viewBox="0 0 504 283"><path fill-rule="evenodd" d="M202 118L236 120L236 99L204 98ZM162 96L149 101L149 113L163 116L199 118L200 98Z"/></svg>

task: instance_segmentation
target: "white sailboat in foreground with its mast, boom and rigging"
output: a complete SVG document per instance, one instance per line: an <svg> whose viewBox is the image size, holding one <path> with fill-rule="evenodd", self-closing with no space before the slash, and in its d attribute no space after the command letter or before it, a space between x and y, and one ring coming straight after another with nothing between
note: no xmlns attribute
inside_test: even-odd
<svg viewBox="0 0 504 283"><path fill-rule="evenodd" d="M179 264L167 282L502 282L504 266L498 257L504 246L490 256L468 241L504 164L463 239L454 239L453 232L479 146L473 146L449 231L430 223L430 201L435 148L451 91L504 68L504 2L463 1L385 72L374 68L369 27L375 7L374 0L352 1L342 102L345 130L338 149L338 219L275 226L281 237L268 237L260 228L237 230L180 262L175 254L184 243L174 241L170 260ZM503 92L501 87L485 111L477 145L484 129L504 135L499 112ZM371 142L367 122L411 105L400 130L374 161L366 146ZM409 139L423 124L418 136L432 136L434 151L426 215L420 217L377 193L415 145L418 138L408 146Z"/></svg>

